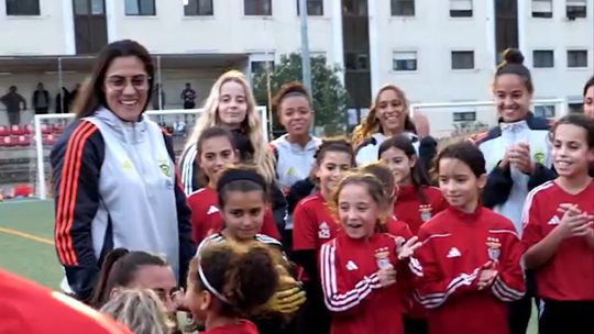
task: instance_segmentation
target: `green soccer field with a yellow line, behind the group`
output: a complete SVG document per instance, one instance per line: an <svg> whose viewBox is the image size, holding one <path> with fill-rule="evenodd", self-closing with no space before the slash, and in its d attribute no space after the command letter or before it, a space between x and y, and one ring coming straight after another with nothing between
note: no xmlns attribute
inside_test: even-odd
<svg viewBox="0 0 594 334"><path fill-rule="evenodd" d="M63 271L53 233L53 201L0 202L0 268L58 289ZM537 333L536 312L527 334Z"/></svg>

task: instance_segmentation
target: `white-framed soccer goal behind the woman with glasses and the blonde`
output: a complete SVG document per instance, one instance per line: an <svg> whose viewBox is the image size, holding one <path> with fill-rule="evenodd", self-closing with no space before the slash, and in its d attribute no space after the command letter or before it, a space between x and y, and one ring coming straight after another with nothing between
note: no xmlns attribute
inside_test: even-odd
<svg viewBox="0 0 594 334"><path fill-rule="evenodd" d="M262 133L268 140L268 114L257 107ZM145 114L173 135L179 157L202 109L150 110ZM40 199L52 197L50 153L74 114L35 115L33 124L9 127L0 125L0 194L4 198L31 192ZM29 190L26 190L29 189Z"/></svg>

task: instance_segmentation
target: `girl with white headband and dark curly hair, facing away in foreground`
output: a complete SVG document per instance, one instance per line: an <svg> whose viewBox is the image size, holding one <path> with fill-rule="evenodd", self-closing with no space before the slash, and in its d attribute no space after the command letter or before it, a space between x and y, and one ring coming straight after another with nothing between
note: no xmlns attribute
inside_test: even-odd
<svg viewBox="0 0 594 334"><path fill-rule="evenodd" d="M277 264L264 245L212 243L190 263L185 304L208 334L257 334L245 318L276 292Z"/></svg>

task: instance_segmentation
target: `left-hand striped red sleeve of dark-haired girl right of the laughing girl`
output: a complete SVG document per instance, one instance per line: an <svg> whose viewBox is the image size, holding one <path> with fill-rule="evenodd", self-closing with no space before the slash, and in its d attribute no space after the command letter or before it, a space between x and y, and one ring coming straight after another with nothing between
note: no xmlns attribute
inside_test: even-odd
<svg viewBox="0 0 594 334"><path fill-rule="evenodd" d="M422 245L415 252L415 256L410 258L409 267L416 276L415 286L417 291L415 298L421 305L427 309L439 308L452 294L476 289L481 268L475 268L470 272L447 275L441 267L432 245L436 238L448 237L449 234L427 236L427 233L421 227L419 236Z"/></svg>

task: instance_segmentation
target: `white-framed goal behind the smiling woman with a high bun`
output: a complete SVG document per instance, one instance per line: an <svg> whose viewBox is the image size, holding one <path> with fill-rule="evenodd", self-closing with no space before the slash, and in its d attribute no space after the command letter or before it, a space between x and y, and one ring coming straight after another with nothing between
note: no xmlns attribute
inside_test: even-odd
<svg viewBox="0 0 594 334"><path fill-rule="evenodd" d="M537 116L558 119L568 112L564 99L534 100ZM455 141L481 133L497 124L493 101L414 103L410 113L420 112L429 120L430 134L438 142Z"/></svg>

